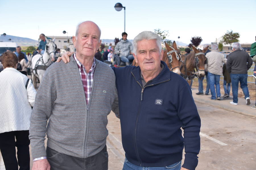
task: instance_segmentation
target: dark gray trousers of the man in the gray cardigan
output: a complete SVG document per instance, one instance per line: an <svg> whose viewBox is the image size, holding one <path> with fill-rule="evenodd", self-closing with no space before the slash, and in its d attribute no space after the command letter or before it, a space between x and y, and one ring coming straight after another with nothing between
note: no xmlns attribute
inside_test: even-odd
<svg viewBox="0 0 256 170"><path fill-rule="evenodd" d="M88 158L77 158L61 154L47 146L47 160L51 170L108 170L108 152L105 146L98 154Z"/></svg>

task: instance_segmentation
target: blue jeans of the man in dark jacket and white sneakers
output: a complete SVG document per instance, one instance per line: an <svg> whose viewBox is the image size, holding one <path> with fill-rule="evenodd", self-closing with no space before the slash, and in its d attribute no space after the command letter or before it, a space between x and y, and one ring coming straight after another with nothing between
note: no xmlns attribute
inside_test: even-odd
<svg viewBox="0 0 256 170"><path fill-rule="evenodd" d="M243 90L244 98L249 97L249 90L247 87L247 74L230 74L231 83L232 83L232 94L233 102L238 102L238 82L240 82L240 87Z"/></svg>

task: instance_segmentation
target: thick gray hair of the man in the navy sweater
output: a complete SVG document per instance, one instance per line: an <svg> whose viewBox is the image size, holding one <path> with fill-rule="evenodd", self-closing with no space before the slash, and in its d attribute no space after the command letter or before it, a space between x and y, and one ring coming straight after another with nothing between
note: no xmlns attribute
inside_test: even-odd
<svg viewBox="0 0 256 170"><path fill-rule="evenodd" d="M137 54L137 43L142 40L156 40L156 44L159 48L159 51L162 50L162 39L156 34L151 31L143 31L139 33L134 39L133 39L133 53Z"/></svg>

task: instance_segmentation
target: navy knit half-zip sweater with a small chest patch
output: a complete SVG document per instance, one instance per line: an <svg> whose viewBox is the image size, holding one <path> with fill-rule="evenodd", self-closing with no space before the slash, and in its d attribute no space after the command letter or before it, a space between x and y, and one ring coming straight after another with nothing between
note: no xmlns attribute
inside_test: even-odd
<svg viewBox="0 0 256 170"><path fill-rule="evenodd" d="M138 166L164 167L182 159L185 145L182 167L193 170L200 150L200 117L187 82L161 63L164 69L144 88L140 67L113 68L125 156Z"/></svg>

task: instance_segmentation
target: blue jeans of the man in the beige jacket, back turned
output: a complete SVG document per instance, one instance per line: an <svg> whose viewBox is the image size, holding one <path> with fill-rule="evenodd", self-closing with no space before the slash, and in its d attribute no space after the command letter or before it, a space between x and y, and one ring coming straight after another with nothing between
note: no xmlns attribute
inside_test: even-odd
<svg viewBox="0 0 256 170"><path fill-rule="evenodd" d="M209 78L209 83L210 83L210 90L211 90L211 99L216 99L216 94L217 97L220 97L220 75L212 74L208 72L208 78ZM215 87L214 87L215 84ZM216 88L216 93L215 93L215 88Z"/></svg>

